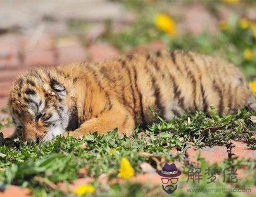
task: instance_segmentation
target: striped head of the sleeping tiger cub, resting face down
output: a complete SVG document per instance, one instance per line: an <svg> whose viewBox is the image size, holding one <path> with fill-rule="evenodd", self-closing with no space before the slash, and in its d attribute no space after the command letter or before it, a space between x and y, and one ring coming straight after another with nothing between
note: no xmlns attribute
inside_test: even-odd
<svg viewBox="0 0 256 197"><path fill-rule="evenodd" d="M30 71L16 79L8 105L22 140L46 142L70 129L73 89L68 74L58 69Z"/></svg>

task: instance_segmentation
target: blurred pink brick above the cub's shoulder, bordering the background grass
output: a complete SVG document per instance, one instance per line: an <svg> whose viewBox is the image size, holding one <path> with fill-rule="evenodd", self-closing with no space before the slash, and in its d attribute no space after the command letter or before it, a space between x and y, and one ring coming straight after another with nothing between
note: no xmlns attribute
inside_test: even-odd
<svg viewBox="0 0 256 197"><path fill-rule="evenodd" d="M88 47L88 52L92 61L102 61L119 55L118 50L108 43L92 44Z"/></svg>

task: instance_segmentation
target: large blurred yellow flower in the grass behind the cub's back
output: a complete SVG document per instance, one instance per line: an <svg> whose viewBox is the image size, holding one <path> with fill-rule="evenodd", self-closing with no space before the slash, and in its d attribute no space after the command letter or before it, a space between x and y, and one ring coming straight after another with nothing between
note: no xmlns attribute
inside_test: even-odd
<svg viewBox="0 0 256 197"><path fill-rule="evenodd" d="M169 36L174 37L177 35L176 23L166 14L158 14L155 17L155 25Z"/></svg>

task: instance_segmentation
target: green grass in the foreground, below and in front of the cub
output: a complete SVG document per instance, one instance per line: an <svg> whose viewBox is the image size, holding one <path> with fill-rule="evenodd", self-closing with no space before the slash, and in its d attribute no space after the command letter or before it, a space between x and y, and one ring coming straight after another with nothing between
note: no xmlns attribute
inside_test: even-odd
<svg viewBox="0 0 256 197"><path fill-rule="evenodd" d="M77 179L78 170L86 166L88 168L87 175L96 180L102 173L106 173L109 179L117 178L119 162L122 157L129 159L136 174L141 173L140 164L142 162L148 162L156 168L157 163L154 159L141 154L143 152L158 155L167 162L179 161L184 166L188 166L185 150L191 146L191 142L197 147L225 146L228 145L229 139L243 139L251 148L255 149L256 127L255 123L249 119L252 115L256 114L243 109L237 114L223 118L218 115L209 118L202 112L184 115L171 122L158 117L159 122L149 126L141 139L138 137L138 133L141 131L137 128L132 138L118 137L117 131L111 131L105 136L97 136L94 133L94 135L85 136L80 140L71 137L67 139L58 137L55 141L39 145L28 145L18 139L8 145L1 142L0 188L4 189L6 185L14 184L32 188L35 196L62 196L64 195L62 191L53 191L48 185L36 181L34 176L40 176L53 183L69 182ZM218 131L212 132L211 128L215 126L222 127ZM206 131L206 128L210 128L210 131ZM85 145L85 148L81 148L81 145ZM177 155L171 152L173 148L178 149ZM111 149L114 150L112 155ZM200 159L199 156L198 159ZM220 168L225 166L255 168L255 161L245 159L239 161L236 158L231 158L224 163L218 163L218 166ZM186 172L187 168L182 171ZM251 186L255 181L255 179L247 180L245 185ZM220 184L223 185L223 183L218 183L216 186L220 186ZM106 196L111 196L111 193L115 193L118 196L118 193L125 192L127 196L131 196L129 188L132 188L137 196L141 196L143 193L145 195L149 191L157 192L155 187L137 183L119 183L111 185L111 189L108 190L105 190L104 185L97 181L94 182L94 186L97 188L95 195L105 193ZM207 186L204 184L201 187ZM179 192L179 195L182 193Z"/></svg>

